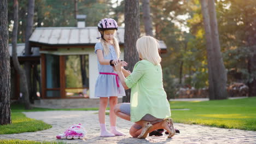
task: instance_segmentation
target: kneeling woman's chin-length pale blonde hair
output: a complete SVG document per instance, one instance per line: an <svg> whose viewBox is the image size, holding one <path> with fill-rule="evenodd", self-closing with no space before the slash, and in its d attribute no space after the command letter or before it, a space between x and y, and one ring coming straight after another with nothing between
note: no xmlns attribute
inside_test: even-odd
<svg viewBox="0 0 256 144"><path fill-rule="evenodd" d="M143 36L137 40L136 47L138 53L141 54L142 59L146 59L154 65L158 65L161 62L161 57L159 56L159 43L155 38Z"/></svg>

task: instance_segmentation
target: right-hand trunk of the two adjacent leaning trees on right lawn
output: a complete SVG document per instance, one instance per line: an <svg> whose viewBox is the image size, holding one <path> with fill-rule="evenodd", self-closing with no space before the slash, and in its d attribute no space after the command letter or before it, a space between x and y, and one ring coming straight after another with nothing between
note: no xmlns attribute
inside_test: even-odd
<svg viewBox="0 0 256 144"><path fill-rule="evenodd" d="M226 91L226 70L223 63L222 52L220 51L219 44L219 31L218 31L218 22L216 16L216 8L214 0L208 1L208 10L210 15L210 24L211 24L211 37L212 37L212 48L213 48L213 80L214 80L214 99L227 99L228 92Z"/></svg>

